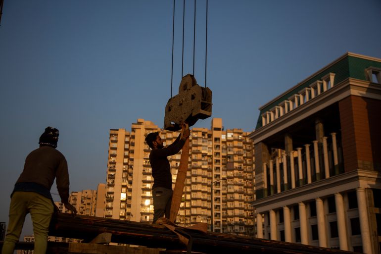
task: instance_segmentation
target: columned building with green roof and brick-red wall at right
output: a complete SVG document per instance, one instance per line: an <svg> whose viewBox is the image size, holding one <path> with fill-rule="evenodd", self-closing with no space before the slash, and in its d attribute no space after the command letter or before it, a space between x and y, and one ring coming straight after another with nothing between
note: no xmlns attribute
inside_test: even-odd
<svg viewBox="0 0 381 254"><path fill-rule="evenodd" d="M381 59L346 53L260 108L256 235L380 253Z"/></svg>

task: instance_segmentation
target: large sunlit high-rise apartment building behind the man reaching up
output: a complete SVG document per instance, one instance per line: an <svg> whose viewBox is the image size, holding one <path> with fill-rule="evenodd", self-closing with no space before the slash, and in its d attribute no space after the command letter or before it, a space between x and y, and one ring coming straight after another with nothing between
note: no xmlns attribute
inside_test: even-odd
<svg viewBox="0 0 381 254"><path fill-rule="evenodd" d="M151 222L153 178L150 148L144 138L159 131L165 145L180 132L160 130L151 121L138 119L131 131L111 129L107 166L105 217ZM222 119L212 120L211 129L193 128L190 137L189 171L177 223L199 222L215 232L253 233L253 143L240 129L224 130ZM181 152L168 157L173 187ZM213 199L211 200L211 189ZM212 213L213 207L213 213ZM211 216L212 215L212 216Z"/></svg>

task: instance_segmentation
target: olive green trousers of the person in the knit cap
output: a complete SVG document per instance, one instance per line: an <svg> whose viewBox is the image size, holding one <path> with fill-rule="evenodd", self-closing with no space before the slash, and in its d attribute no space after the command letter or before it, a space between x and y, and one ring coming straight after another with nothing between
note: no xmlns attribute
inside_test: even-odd
<svg viewBox="0 0 381 254"><path fill-rule="evenodd" d="M48 244L48 227L53 214L50 199L35 192L14 192L10 200L9 222L2 254L13 254L24 225L25 216L31 214L35 237L34 254L45 254Z"/></svg>

